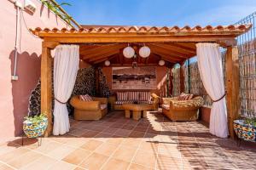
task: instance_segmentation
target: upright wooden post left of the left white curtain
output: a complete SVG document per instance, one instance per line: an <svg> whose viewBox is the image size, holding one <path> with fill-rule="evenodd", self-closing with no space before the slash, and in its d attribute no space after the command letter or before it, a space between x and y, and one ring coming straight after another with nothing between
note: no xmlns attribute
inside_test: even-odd
<svg viewBox="0 0 256 170"><path fill-rule="evenodd" d="M44 133L48 137L52 133L52 58L50 48L43 42L41 57L41 112L47 114L48 127Z"/></svg>

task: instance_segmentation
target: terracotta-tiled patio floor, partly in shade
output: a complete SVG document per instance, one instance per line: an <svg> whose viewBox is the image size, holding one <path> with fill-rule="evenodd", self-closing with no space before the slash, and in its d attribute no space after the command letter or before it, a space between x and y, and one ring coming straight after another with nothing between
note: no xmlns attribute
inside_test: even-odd
<svg viewBox="0 0 256 170"><path fill-rule="evenodd" d="M200 122L171 122L158 112L140 121L114 111L101 121L74 121L70 133L0 145L2 169L255 169L256 147L236 146ZM254 160L254 161L253 161Z"/></svg>

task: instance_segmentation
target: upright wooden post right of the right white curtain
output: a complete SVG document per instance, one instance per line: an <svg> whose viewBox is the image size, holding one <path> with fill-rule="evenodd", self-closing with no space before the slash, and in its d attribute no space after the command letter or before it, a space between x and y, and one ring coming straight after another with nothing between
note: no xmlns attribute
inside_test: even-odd
<svg viewBox="0 0 256 170"><path fill-rule="evenodd" d="M239 99L239 60L236 46L228 47L226 54L227 111L230 137L235 138L233 121L238 117Z"/></svg>

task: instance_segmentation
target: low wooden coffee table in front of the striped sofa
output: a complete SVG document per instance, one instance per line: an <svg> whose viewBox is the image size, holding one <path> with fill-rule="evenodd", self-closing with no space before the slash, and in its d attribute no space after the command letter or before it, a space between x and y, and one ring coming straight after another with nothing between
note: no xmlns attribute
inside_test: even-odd
<svg viewBox="0 0 256 170"><path fill-rule="evenodd" d="M131 117L131 111L132 111L132 118L134 120L139 120L142 117L147 116L147 111L152 110L152 105L149 104L123 104L123 109L125 110L125 117L130 118Z"/></svg>

